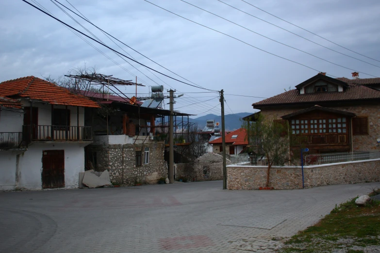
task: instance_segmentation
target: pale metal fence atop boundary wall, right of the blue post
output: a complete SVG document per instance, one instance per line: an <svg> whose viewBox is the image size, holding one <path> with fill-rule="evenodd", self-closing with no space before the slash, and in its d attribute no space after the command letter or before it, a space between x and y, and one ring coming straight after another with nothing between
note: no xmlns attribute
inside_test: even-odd
<svg viewBox="0 0 380 253"><path fill-rule="evenodd" d="M304 155L303 165L358 161L380 158L380 152L335 152Z"/></svg>

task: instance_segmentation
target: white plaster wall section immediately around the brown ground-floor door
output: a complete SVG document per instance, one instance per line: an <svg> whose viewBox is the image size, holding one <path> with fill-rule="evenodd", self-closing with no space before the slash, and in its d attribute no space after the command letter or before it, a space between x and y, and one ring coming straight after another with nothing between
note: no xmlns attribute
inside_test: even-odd
<svg viewBox="0 0 380 253"><path fill-rule="evenodd" d="M79 173L84 172L84 147L80 143L33 143L20 155L19 188L42 189L43 150L65 150L65 188L78 188Z"/></svg>

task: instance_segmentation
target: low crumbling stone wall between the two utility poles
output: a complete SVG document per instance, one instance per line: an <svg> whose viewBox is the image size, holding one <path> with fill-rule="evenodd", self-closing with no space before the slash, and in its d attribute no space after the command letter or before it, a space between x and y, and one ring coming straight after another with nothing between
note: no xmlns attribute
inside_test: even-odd
<svg viewBox="0 0 380 253"><path fill-rule="evenodd" d="M227 160L227 165L231 164ZM176 178L185 177L188 181L209 181L223 179L223 157L206 153L193 163L177 163Z"/></svg>

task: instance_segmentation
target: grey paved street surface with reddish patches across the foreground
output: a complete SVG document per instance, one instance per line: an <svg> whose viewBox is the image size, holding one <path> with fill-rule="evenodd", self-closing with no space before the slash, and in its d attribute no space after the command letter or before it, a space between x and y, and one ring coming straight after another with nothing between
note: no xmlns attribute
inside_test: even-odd
<svg viewBox="0 0 380 253"><path fill-rule="evenodd" d="M0 192L0 252L272 252L380 183L221 190L222 182Z"/></svg>

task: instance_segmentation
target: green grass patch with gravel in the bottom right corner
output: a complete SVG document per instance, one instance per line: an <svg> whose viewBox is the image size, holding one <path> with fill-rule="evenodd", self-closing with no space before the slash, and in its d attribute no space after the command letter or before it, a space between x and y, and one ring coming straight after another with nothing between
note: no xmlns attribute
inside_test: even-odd
<svg viewBox="0 0 380 253"><path fill-rule="evenodd" d="M374 190L371 195L380 193ZM336 205L314 226L291 237L277 252L365 252L368 245L380 245L380 202L357 206L354 198Z"/></svg>

